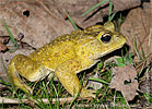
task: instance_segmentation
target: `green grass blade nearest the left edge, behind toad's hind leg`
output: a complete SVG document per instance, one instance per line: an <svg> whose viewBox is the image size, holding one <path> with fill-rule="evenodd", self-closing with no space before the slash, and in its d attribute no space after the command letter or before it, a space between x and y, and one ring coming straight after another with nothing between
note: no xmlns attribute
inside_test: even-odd
<svg viewBox="0 0 152 109"><path fill-rule="evenodd" d="M7 29L7 33L9 34L10 36L10 39L11 39L11 43L13 44L13 46L15 47L15 49L17 48L17 43L15 41L12 33L10 32L9 27L7 26L7 23L5 21L3 20L3 25L4 25L4 28Z"/></svg>

